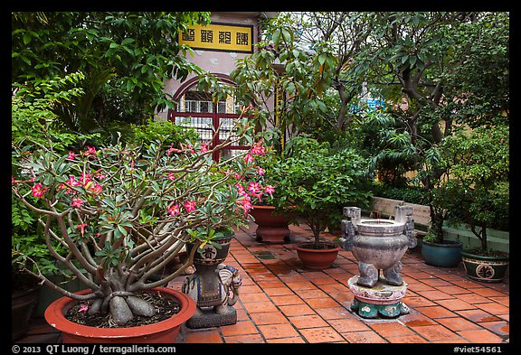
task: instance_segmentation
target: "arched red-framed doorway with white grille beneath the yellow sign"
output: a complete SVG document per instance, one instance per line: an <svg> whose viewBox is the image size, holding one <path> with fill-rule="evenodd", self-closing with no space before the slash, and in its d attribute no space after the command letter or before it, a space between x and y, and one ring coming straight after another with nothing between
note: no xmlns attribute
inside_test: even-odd
<svg viewBox="0 0 521 355"><path fill-rule="evenodd" d="M223 74L213 74L226 84L234 85L232 79ZM177 89L174 100L175 109L168 110L168 120L177 126L192 127L203 142L218 145L232 135L233 119L241 114L240 107L232 95L225 100L214 103L212 94L197 90L197 78L189 79ZM215 132L218 131L216 135ZM248 145L230 145L213 154L213 160L236 154L237 151L249 149Z"/></svg>

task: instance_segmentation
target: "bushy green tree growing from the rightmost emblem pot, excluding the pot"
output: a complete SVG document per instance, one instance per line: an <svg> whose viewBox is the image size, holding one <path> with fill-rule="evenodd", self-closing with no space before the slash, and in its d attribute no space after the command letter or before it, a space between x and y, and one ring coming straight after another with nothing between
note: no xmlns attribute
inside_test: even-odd
<svg viewBox="0 0 521 355"><path fill-rule="evenodd" d="M441 146L446 180L435 193L436 205L452 223L465 223L489 253L487 229L508 228L509 129L497 125L459 131Z"/></svg>

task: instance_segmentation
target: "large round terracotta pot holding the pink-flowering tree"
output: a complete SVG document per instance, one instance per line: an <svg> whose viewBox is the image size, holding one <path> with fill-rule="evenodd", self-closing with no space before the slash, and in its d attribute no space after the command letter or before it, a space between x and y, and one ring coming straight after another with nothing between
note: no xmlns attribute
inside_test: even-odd
<svg viewBox="0 0 521 355"><path fill-rule="evenodd" d="M90 327L65 318L64 314L78 301L62 297L49 305L45 311L45 320L52 327L62 332L63 343L172 343L181 330L181 326L195 313L195 303L188 295L171 288L156 287L150 291L159 291L163 297L175 300L181 309L165 321L136 327L98 328ZM87 294L82 290L77 294Z"/></svg>

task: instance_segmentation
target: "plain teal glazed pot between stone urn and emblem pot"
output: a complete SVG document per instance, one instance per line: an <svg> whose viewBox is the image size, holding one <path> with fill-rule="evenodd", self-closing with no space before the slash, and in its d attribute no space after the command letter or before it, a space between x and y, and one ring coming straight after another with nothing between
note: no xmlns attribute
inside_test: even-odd
<svg viewBox="0 0 521 355"><path fill-rule="evenodd" d="M463 243L459 240L442 242L422 241L422 257L425 264L440 267L456 267L461 261Z"/></svg>

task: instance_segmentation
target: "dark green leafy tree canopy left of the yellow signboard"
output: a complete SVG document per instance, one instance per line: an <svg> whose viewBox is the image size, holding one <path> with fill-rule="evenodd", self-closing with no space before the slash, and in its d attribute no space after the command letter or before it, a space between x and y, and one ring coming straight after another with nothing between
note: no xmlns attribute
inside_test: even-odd
<svg viewBox="0 0 521 355"><path fill-rule="evenodd" d="M55 107L70 129L99 132L112 119L138 123L173 104L165 80L203 73L175 39L209 19L204 12L13 13L12 82L81 71L83 95Z"/></svg>

